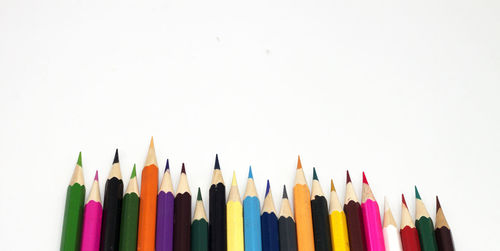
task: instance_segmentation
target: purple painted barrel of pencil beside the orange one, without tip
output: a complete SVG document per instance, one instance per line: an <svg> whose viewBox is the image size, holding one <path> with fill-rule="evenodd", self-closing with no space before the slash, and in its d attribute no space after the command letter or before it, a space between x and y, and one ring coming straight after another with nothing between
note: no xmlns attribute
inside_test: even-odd
<svg viewBox="0 0 500 251"><path fill-rule="evenodd" d="M174 195L161 191L156 211L156 251L172 251L174 238Z"/></svg>

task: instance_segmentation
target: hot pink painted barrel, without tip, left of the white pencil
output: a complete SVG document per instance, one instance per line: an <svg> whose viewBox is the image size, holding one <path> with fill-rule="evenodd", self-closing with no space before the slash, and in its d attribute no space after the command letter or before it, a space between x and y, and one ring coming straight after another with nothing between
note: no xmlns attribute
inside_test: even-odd
<svg viewBox="0 0 500 251"><path fill-rule="evenodd" d="M384 234L377 202L368 199L361 204L361 209L365 226L366 250L384 251Z"/></svg>

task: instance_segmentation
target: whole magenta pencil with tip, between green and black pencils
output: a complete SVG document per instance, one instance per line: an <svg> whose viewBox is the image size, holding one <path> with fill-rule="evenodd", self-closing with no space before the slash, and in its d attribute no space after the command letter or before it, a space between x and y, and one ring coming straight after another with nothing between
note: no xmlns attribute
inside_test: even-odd
<svg viewBox="0 0 500 251"><path fill-rule="evenodd" d="M83 209L81 251L99 251L101 239L102 203L99 191L99 177L95 172L94 183Z"/></svg>

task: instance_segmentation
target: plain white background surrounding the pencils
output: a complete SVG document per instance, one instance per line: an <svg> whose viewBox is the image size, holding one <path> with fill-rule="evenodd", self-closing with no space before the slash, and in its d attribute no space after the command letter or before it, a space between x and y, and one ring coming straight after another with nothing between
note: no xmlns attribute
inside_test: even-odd
<svg viewBox="0 0 500 251"><path fill-rule="evenodd" d="M500 2L0 1L0 242L58 250L79 151L101 189L154 136L205 202L216 153L244 193L291 189L297 155L344 198L361 171L399 224L418 185L457 250L498 250ZM161 177L161 175L160 175ZM87 193L90 190L87 187ZM103 190L101 190L101 193ZM193 202L194 205L194 202ZM206 207L208 204L205 203Z"/></svg>

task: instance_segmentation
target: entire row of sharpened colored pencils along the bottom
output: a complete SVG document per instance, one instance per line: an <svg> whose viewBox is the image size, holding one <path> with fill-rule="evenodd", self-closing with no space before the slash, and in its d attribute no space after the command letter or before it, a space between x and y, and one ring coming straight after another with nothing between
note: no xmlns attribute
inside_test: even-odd
<svg viewBox="0 0 500 251"><path fill-rule="evenodd" d="M158 164L151 140L142 171L141 191L134 165L123 195L118 150L104 191L102 203L98 173L84 203L82 158L78 157L67 190L61 250L139 250L139 251L432 251L454 250L450 227L436 197L436 225L416 193L416 221L402 197L401 226L385 200L384 219L363 173L361 203L347 172L343 207L333 180L330 206L313 169L311 191L304 170L297 163L293 187L294 211L283 187L281 209L277 213L267 181L262 208L252 169L243 200L235 173L226 203L226 189L216 156L209 190L207 217L200 188L191 216L191 192L184 164L174 193L167 160L158 190ZM210 219L210 220L209 220Z"/></svg>

